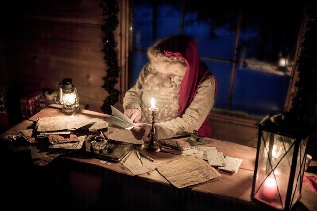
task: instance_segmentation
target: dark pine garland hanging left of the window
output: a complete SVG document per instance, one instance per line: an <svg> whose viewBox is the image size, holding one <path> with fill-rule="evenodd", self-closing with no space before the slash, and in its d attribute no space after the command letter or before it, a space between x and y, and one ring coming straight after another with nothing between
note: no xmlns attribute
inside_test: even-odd
<svg viewBox="0 0 317 211"><path fill-rule="evenodd" d="M103 59L107 65L107 75L103 77L104 84L102 85L102 88L108 92L108 96L103 101L101 110L104 113L110 114L110 105L114 105L119 100L119 90L115 89L115 84L118 82L120 69L117 61L117 52L115 50L117 43L115 42L114 36L114 31L119 24L117 18L119 7L116 0L102 0L99 6L102 9L102 15L104 16L104 24L101 26L103 43L102 51L104 53Z"/></svg>

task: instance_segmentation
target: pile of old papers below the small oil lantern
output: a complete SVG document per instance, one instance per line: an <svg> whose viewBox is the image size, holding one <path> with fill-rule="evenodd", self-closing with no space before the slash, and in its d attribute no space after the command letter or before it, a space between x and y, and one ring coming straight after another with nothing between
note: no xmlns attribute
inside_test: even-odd
<svg viewBox="0 0 317 211"><path fill-rule="evenodd" d="M77 129L93 133L107 126L103 119L81 114L42 117L30 125L32 129L20 130L20 135L11 138L23 137L30 144L28 149L34 163L43 166L61 154L82 148L87 136Z"/></svg>

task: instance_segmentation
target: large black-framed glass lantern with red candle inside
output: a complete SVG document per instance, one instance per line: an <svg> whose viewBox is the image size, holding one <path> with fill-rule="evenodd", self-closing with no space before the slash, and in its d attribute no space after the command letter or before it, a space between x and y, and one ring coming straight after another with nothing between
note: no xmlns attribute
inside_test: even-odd
<svg viewBox="0 0 317 211"><path fill-rule="evenodd" d="M314 128L288 112L259 123L251 199L290 210L301 198L307 140Z"/></svg>

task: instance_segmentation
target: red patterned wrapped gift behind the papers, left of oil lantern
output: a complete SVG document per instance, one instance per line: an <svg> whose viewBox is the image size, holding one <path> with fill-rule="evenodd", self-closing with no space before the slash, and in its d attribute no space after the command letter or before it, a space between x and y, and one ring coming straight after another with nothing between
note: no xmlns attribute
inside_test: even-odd
<svg viewBox="0 0 317 211"><path fill-rule="evenodd" d="M40 99L45 100L42 91L34 92L20 100L23 119L28 119L41 110L39 107Z"/></svg>

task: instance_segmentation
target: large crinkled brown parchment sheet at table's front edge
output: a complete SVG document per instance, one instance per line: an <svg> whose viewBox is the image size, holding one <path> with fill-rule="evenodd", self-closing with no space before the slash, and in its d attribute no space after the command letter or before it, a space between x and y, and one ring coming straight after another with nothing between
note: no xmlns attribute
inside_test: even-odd
<svg viewBox="0 0 317 211"><path fill-rule="evenodd" d="M196 156L187 156L158 164L156 167L158 172L177 188L196 185L220 176L216 169Z"/></svg>

